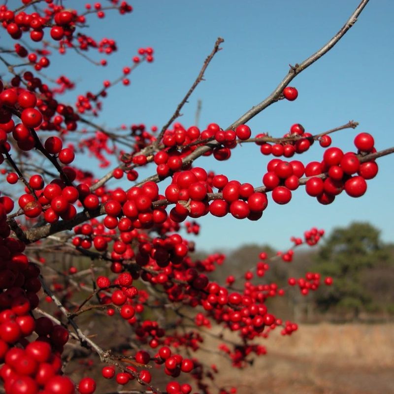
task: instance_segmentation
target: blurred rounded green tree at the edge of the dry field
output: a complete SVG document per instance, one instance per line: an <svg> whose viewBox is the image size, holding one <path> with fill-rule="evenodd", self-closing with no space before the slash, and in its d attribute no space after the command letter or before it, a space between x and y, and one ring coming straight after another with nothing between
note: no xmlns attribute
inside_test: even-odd
<svg viewBox="0 0 394 394"><path fill-rule="evenodd" d="M317 296L318 308L353 310L356 318L362 310L373 309L373 293L367 290L362 276L390 256L380 231L368 223L334 229L316 256L314 269L333 278L333 285Z"/></svg>

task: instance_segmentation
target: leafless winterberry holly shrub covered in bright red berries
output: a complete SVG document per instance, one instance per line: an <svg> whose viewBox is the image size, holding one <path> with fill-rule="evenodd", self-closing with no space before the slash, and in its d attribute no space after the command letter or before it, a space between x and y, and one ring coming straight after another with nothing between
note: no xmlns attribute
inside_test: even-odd
<svg viewBox="0 0 394 394"><path fill-rule="evenodd" d="M163 128L133 124L107 129L99 122L107 91L118 83L128 86L136 67L152 63L151 47L137 49L114 80L99 82L95 93L79 95L72 103L62 99L75 86L66 70L58 70L56 80L46 79L45 70L57 54L73 51L82 60L92 52L117 51L115 40L89 35L88 21L105 20L107 12L128 17L132 6L119 0L85 8L78 3L78 9L54 0L0 6L1 36L12 42L0 49L5 71L0 81L0 378L5 393L102 393L106 380L113 391L121 385L128 393L211 393L217 390L210 382L218 368L196 353L206 335L216 337L218 351L234 367L244 367L266 353L259 338L274 329L283 335L297 330L295 322L267 308L267 299L291 287L307 295L332 279L307 272L281 288L262 278L272 261L291 262L297 246L315 245L324 230L292 237L293 246L275 256L262 251L242 277L229 273L225 283L209 276L221 269L225 256L195 260L194 244L180 230L197 234L198 218L204 215L260 220L265 209L290 203L293 193L306 193L325 205L342 192L350 197L366 192L367 181L378 172L376 159L394 148L377 151L367 132L357 134L353 152L332 146L331 133L354 129L356 122L319 134L294 124L279 137L247 125L270 104L297 99L290 83L342 38L366 2L328 44L291 66L263 102L230 126L213 120L204 129L175 121L221 49L222 38ZM106 64L96 62L96 72ZM261 184L203 167L205 156L229 160L232 150L245 143L267 156ZM313 144L322 148L321 161L298 160ZM105 175L97 178L84 168L87 152L107 168ZM140 179L142 167L151 176ZM165 179L170 183L163 187ZM72 264L65 269L59 262L67 256ZM87 259L89 264L79 263ZM128 337L113 346L111 338L100 337L105 331L91 336L80 323L83 316L122 325ZM209 333L214 326L224 334ZM224 341L226 332L235 333L238 341ZM89 373L73 381L67 363L80 354L92 363L85 365ZM156 384L152 366L167 376L161 380L167 383ZM91 373L95 379L93 369L99 371ZM235 393L236 388L218 390Z"/></svg>

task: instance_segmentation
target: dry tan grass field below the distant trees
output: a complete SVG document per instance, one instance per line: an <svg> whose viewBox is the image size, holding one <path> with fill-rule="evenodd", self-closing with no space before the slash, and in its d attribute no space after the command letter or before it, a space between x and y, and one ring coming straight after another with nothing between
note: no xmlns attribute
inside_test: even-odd
<svg viewBox="0 0 394 394"><path fill-rule="evenodd" d="M394 393L394 324L322 323L301 325L292 336L271 334L263 342L267 355L243 370L205 353L221 370L217 383L238 394Z"/></svg>

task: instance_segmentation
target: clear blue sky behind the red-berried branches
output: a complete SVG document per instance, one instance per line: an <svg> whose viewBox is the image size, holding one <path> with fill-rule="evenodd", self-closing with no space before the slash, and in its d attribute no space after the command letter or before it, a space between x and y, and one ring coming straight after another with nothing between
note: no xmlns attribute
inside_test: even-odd
<svg viewBox="0 0 394 394"><path fill-rule="evenodd" d="M19 1L8 3L12 7ZM51 73L58 76L57 69L62 67L67 76L80 81L67 96L74 102L76 95L96 91L104 79L118 76L123 66L131 64L138 47L152 46L155 62L136 69L129 87L117 86L109 91L101 122L114 127L145 123L160 128L191 86L216 38L222 36L223 50L206 71L206 81L184 107L180 121L186 127L193 125L197 100L201 99L200 126L216 122L226 127L277 86L289 63L301 62L326 43L358 3L136 0L131 2L134 11L127 16L120 18L115 12L107 12L103 21L95 16L88 19L95 37L117 40L119 51L107 57L107 67L92 68L83 59L71 57L70 61L63 57L53 61ZM64 4L73 7L81 2ZM268 131L282 136L294 123L316 133L353 119L360 123L359 128L335 133L334 145L354 150L356 133L368 131L374 135L377 149L394 146L393 15L394 1L370 1L337 46L293 80L298 99L280 101L255 117L249 122L253 133ZM323 149L315 144L307 154L295 159L304 163L320 161L322 155ZM202 158L196 165L260 186L267 161L256 145L244 144L232 152L228 162ZM82 160L78 163L84 165ZM270 200L258 222L238 221L230 216L201 218L201 235L195 238L197 247L229 249L255 242L285 248L291 235L301 235L313 226L329 231L352 221L369 221L382 230L385 241L392 242L394 155L380 159L378 164L378 176L368 181L366 195L358 199L343 193L333 204L322 206L300 188L286 206Z"/></svg>

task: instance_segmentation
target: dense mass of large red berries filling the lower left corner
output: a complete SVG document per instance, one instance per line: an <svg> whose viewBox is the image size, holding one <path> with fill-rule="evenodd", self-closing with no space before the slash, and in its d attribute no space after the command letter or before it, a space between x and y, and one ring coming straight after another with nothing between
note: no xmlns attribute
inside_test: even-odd
<svg viewBox="0 0 394 394"><path fill-rule="evenodd" d="M61 355L68 330L47 317L35 318L41 289L39 267L23 253L25 245L9 237L6 208L0 202L0 378L6 393L74 394L73 382L62 373ZM35 335L35 339L27 339ZM93 379L82 379L79 393L92 394Z"/></svg>

